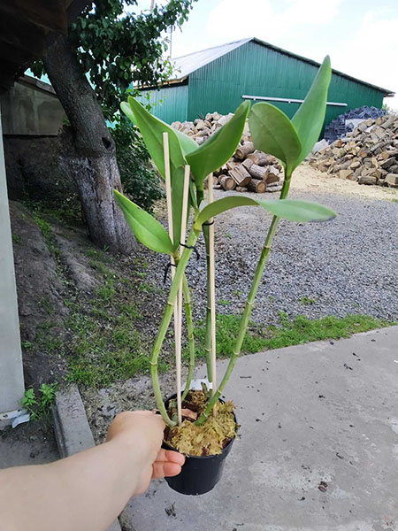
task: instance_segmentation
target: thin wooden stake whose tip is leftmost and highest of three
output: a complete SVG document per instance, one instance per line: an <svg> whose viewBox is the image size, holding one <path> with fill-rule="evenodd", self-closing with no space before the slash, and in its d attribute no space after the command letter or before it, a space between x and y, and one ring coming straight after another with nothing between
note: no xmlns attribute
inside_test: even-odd
<svg viewBox="0 0 398 531"><path fill-rule="evenodd" d="M163 134L163 152L165 158L165 185L166 185L166 202L167 202L167 221L169 226L169 235L173 243L173 227L172 227L172 175L170 173L170 152L169 152L169 135L168 133ZM173 257L170 257L172 263L172 281L174 280L175 274L175 260ZM180 340L180 291L179 296L173 304L173 315L174 315L174 347L175 347L175 363L176 363L176 387L177 387L177 416L178 422L181 423L181 340Z"/></svg>

